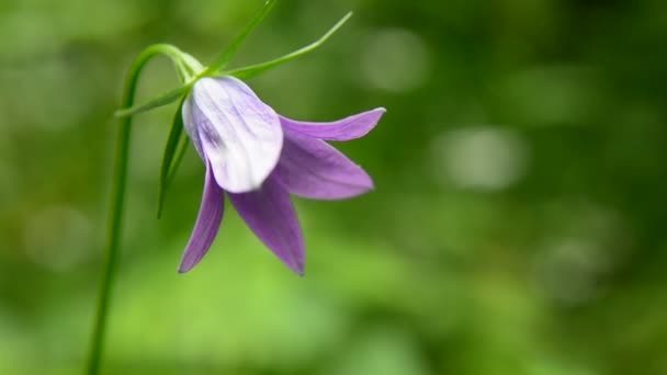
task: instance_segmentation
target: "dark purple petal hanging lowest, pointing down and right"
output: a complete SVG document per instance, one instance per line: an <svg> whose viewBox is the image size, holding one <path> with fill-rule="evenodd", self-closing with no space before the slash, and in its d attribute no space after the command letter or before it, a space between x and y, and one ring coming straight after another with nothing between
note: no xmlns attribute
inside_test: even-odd
<svg viewBox="0 0 667 375"><path fill-rule="evenodd" d="M255 235L294 272L304 272L304 239L290 193L272 177L261 189L229 194L238 214Z"/></svg>

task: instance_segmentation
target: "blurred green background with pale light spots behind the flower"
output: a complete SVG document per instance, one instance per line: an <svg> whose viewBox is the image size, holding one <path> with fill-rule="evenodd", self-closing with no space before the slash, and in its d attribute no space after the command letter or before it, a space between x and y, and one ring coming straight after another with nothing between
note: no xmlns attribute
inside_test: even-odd
<svg viewBox="0 0 667 375"><path fill-rule="evenodd" d="M124 75L148 44L203 63L260 0L0 2L0 374L83 367ZM174 105L137 116L105 374L667 374L664 0L290 1L239 67L314 121L385 106L337 145L375 179L296 200L306 276L227 205L176 269L204 168L186 155L162 219ZM167 60L144 100L177 84Z"/></svg>

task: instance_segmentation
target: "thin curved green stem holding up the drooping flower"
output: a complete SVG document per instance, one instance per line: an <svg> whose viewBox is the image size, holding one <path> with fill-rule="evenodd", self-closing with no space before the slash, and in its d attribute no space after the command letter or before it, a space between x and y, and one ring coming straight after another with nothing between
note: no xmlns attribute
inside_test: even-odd
<svg viewBox="0 0 667 375"><path fill-rule="evenodd" d="M134 96L139 78L139 73L146 64L158 55L170 57L177 69L181 61L181 52L170 45L156 44L146 48L136 58L125 81L125 92L123 94L122 107L129 107L134 103ZM118 138L116 140L116 156L113 175L113 188L111 192L111 209L109 216L109 231L106 234L106 259L102 280L100 284L100 295L98 299L98 311L95 315L94 330L90 353L88 356L89 375L100 373L104 334L106 331L106 320L109 316L109 303L111 297L111 286L114 282L118 262L118 243L121 241L121 226L123 221L123 206L125 200L125 188L127 180L127 160L129 154L129 130L132 116L120 118Z"/></svg>

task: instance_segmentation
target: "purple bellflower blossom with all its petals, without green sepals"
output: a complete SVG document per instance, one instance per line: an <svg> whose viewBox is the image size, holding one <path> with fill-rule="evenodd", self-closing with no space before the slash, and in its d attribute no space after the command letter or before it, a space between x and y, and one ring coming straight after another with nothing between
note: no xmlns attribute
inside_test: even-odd
<svg viewBox="0 0 667 375"><path fill-rule="evenodd" d="M224 192L257 237L298 274L305 247L290 194L341 200L373 189L369 174L325 140L368 134L380 107L331 123L283 117L234 77L202 78L183 104L183 124L206 164L200 212L179 272L206 254L223 219Z"/></svg>

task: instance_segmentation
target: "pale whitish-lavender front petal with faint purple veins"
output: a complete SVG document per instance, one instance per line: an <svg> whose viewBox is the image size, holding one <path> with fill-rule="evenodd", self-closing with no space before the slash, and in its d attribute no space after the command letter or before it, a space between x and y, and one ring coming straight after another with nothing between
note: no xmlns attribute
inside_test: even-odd
<svg viewBox="0 0 667 375"><path fill-rule="evenodd" d="M191 110L218 185L231 193L259 189L280 157L278 114L233 77L200 79Z"/></svg>

